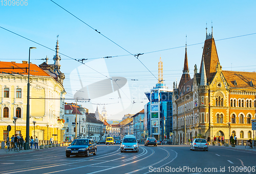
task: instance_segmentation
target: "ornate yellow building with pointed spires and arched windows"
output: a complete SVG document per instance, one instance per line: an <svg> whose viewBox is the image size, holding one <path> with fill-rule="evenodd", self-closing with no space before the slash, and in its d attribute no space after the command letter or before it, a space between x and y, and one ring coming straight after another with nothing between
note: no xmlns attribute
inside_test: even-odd
<svg viewBox="0 0 256 174"><path fill-rule="evenodd" d="M206 30L199 73L195 65L194 78L190 79L185 53L178 87L174 82L174 143L188 142L198 134L205 138L210 136L211 140L214 136L224 136L228 140L231 135L236 135L238 140L252 139L255 85L256 73L222 70L214 37Z"/></svg>

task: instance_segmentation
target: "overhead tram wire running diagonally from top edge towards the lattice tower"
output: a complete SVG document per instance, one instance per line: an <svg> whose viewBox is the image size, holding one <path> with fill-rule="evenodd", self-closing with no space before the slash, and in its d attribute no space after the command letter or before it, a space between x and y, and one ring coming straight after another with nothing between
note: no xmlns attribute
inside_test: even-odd
<svg viewBox="0 0 256 174"><path fill-rule="evenodd" d="M94 29L93 27L91 27L90 25L88 25L87 23L85 23L83 20L81 20L80 18L76 17L74 14L72 14L71 12L69 12L68 10L66 10L65 8L61 7L60 5L58 5L57 3L55 3L54 1L50 0L51 2L53 2L54 4L56 4L58 7L60 7L61 9L65 10L66 12L68 12L69 14L71 14L72 16L74 16L75 18L77 18L78 20L80 20L83 24L87 25L88 27L90 27L91 29L93 29L94 31L96 31L97 33L99 33L100 35L102 35L103 37L105 37L106 39L110 40L111 42L113 42L116 46L120 47L121 49L123 49L124 51L126 51L127 53L131 54L132 56L136 57L139 61L139 55L142 54L137 54L134 55L131 52L129 52L128 50L124 49L123 47L121 47L120 45L118 45L116 42L114 42L113 40L111 40L109 37L106 37L105 35L103 35L102 33L100 33L99 31L97 31L96 29ZM142 63L142 61L140 61ZM145 66L144 63L142 63L143 66L158 80L158 78Z"/></svg>

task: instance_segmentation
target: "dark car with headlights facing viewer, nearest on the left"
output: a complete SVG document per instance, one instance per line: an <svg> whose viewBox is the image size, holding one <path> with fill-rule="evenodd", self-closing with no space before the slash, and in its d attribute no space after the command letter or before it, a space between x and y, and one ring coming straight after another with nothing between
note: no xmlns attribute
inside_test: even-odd
<svg viewBox="0 0 256 174"><path fill-rule="evenodd" d="M88 157L90 154L97 154L97 145L93 139L89 138L80 138L75 139L72 143L66 148L66 157L71 155L79 155Z"/></svg>

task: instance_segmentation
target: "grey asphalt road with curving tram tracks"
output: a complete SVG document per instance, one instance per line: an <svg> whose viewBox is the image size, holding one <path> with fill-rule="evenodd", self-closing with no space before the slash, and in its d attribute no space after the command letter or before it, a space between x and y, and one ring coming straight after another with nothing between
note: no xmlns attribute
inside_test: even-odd
<svg viewBox="0 0 256 174"><path fill-rule="evenodd" d="M120 153L120 145L97 147L89 157L66 158L66 147L1 156L0 173L256 173L256 151L141 145L139 153Z"/></svg>

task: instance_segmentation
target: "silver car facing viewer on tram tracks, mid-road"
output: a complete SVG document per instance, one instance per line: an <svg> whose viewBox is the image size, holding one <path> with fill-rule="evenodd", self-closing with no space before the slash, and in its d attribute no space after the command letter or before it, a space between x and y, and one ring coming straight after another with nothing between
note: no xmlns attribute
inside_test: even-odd
<svg viewBox="0 0 256 174"><path fill-rule="evenodd" d="M124 151L139 151L139 144L136 137L124 137L120 146L121 153Z"/></svg>

